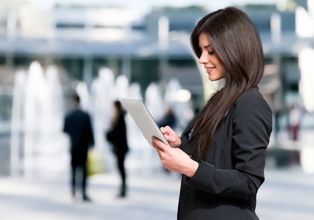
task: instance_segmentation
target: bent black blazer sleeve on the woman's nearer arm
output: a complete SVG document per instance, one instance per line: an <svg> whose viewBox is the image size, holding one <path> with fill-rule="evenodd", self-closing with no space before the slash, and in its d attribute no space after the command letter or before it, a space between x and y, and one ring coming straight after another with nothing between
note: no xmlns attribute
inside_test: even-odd
<svg viewBox="0 0 314 220"><path fill-rule="evenodd" d="M271 109L261 95L240 97L229 126L232 126L232 168L216 169L199 161L195 175L187 178L185 184L219 196L251 198L264 181L266 148L272 130Z"/></svg>

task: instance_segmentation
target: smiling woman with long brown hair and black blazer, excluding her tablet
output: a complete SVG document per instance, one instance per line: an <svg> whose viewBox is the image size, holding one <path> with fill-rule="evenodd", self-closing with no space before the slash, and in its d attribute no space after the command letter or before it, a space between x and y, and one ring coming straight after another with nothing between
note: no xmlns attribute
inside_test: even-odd
<svg viewBox="0 0 314 220"><path fill-rule="evenodd" d="M178 219L258 219L272 112L259 92L264 56L248 16L228 7L206 15L191 45L210 81L223 79L179 137L161 128L171 147L152 137L163 165L182 173Z"/></svg>

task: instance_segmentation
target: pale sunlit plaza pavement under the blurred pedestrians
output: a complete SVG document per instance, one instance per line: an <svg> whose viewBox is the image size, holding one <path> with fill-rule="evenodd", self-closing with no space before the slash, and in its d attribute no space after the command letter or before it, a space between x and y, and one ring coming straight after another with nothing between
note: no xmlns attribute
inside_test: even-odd
<svg viewBox="0 0 314 220"><path fill-rule="evenodd" d="M257 196L261 220L314 219L314 174L299 167L266 169ZM180 176L176 173L132 174L128 195L117 198L119 178L114 173L92 176L92 202L72 199L68 177L59 175L27 180L0 178L0 219L176 219Z"/></svg>

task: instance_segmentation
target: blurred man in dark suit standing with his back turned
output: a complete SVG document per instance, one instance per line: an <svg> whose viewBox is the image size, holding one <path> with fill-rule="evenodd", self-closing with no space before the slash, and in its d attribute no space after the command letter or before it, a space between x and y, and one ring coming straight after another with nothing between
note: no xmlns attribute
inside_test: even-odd
<svg viewBox="0 0 314 220"><path fill-rule="evenodd" d="M84 201L90 201L86 194L87 179L87 152L94 145L94 136L89 114L80 109L80 97L73 96L74 109L67 114L64 120L63 131L69 135L71 147L71 189L75 196L76 174L82 171L82 196Z"/></svg>

